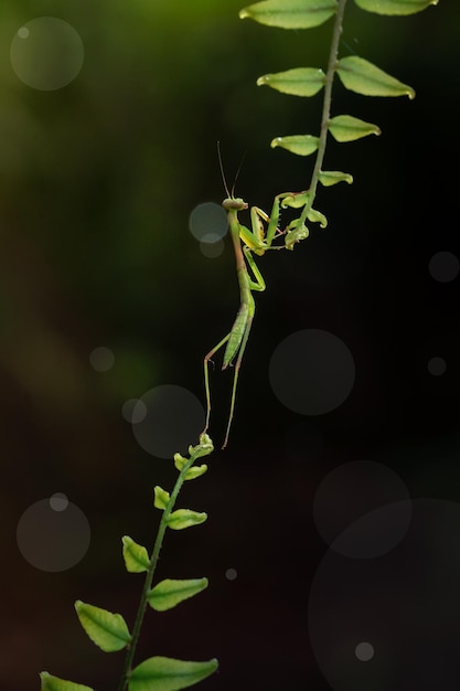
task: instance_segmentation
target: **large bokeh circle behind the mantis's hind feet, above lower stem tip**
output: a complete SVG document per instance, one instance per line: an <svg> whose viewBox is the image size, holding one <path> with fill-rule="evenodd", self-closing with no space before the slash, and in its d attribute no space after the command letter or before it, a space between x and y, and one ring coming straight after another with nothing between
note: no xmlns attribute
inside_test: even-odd
<svg viewBox="0 0 460 691"><path fill-rule="evenodd" d="M142 415L138 416L138 410ZM197 444L204 427L204 410L188 389L174 384L156 386L145 393L132 411L132 433L138 444L152 456L172 458Z"/></svg>

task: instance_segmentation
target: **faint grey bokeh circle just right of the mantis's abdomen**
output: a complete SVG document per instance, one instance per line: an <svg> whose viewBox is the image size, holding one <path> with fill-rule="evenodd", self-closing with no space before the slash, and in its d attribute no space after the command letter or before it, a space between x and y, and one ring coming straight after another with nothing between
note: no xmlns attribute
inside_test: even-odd
<svg viewBox="0 0 460 691"><path fill-rule="evenodd" d="M329 331L306 329L275 349L269 380L277 398L301 415L323 415L339 407L355 381L353 357Z"/></svg>

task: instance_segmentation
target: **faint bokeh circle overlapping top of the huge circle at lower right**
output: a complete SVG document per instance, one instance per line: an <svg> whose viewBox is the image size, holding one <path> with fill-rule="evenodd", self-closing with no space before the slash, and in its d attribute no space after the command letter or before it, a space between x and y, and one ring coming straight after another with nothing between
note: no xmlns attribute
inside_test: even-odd
<svg viewBox="0 0 460 691"><path fill-rule="evenodd" d="M351 559L375 559L393 550L410 525L411 500L387 466L356 460L331 470L313 500L318 532Z"/></svg>

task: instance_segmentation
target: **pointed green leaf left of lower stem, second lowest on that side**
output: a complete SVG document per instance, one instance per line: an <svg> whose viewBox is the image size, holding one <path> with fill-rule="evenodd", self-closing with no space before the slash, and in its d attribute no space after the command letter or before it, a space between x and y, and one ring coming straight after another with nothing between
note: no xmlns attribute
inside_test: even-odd
<svg viewBox="0 0 460 691"><path fill-rule="evenodd" d="M120 614L87 605L81 599L76 600L75 609L86 634L104 652L121 650L130 642L131 635Z"/></svg>

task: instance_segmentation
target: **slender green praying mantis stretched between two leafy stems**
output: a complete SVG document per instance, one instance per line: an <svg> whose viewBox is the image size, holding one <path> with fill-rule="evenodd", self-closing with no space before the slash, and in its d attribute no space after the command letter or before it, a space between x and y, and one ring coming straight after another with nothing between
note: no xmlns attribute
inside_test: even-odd
<svg viewBox="0 0 460 691"><path fill-rule="evenodd" d="M250 327L255 313L255 301L253 290L265 290L265 280L252 256L252 253L261 256L267 249L282 249L284 245L271 246L275 237L282 234L278 228L279 221L279 200L275 199L271 215L268 216L261 209L253 206L250 210L250 221L253 231L242 225L238 221L238 213L248 209L247 202L240 198L234 198L227 191L227 199L224 199L222 205L227 213L228 227L232 236L233 247L236 258L236 273L239 285L239 309L229 333L227 333L204 358L204 387L206 392L206 425L203 432L207 430L211 415L211 392L210 392L210 372L208 363L211 358L226 344L222 369L226 370L231 366L236 358L235 372L233 375L233 389L231 398L231 410L228 423L225 433L225 439L222 448L228 443L228 435L232 426L233 415L235 411L236 386L238 383L239 369L242 360L249 338ZM267 223L267 232L265 232L264 223ZM243 242L243 246L242 246ZM250 278L248 268L254 279Z"/></svg>

